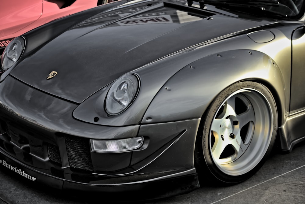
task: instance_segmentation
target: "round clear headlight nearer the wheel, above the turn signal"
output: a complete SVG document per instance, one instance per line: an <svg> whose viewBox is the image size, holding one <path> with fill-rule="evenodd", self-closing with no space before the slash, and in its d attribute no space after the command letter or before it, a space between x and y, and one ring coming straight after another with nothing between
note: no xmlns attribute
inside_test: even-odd
<svg viewBox="0 0 305 204"><path fill-rule="evenodd" d="M139 80L133 74L126 74L116 80L106 96L106 112L110 115L122 113L135 99Z"/></svg>

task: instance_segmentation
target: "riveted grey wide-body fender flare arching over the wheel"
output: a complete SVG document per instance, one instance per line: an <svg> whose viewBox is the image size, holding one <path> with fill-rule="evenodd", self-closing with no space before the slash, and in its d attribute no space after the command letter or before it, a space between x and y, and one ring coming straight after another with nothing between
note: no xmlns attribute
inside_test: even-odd
<svg viewBox="0 0 305 204"><path fill-rule="evenodd" d="M279 102L285 101L284 81L273 59L255 50L228 50L196 60L172 76L152 100L142 124L201 118L217 95L245 80L267 86L281 99L276 100L278 109L284 109Z"/></svg>

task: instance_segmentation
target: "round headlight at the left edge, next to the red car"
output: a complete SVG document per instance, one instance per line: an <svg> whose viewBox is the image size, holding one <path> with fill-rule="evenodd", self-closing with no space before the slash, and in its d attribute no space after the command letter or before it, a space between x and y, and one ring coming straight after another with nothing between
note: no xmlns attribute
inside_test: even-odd
<svg viewBox="0 0 305 204"><path fill-rule="evenodd" d="M16 61L23 54L25 45L25 39L21 36L13 39L7 47L5 47L4 52L1 57L1 68L2 71L9 69L13 66Z"/></svg>

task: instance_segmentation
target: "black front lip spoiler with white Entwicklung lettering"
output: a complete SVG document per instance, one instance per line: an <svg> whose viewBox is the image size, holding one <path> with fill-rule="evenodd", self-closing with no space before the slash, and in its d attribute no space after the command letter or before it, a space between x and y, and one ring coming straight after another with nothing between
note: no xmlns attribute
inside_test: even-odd
<svg viewBox="0 0 305 204"><path fill-rule="evenodd" d="M120 184L87 184L66 180L40 172L30 166L12 158L0 149L0 169L14 172L33 184L44 184L52 188L67 191L86 191L104 193L127 193L137 194L137 199L162 198L172 195L184 194L199 188L198 176L195 168L188 169L181 173L173 173L167 176L160 176L155 179L145 179L136 182L122 182ZM12 174L12 175L13 175ZM127 179L128 180L128 179Z"/></svg>

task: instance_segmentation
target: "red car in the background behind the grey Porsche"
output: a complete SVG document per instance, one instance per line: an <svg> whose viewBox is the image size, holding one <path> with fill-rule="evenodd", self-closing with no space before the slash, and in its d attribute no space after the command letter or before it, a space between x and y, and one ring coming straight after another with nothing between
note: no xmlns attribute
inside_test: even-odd
<svg viewBox="0 0 305 204"><path fill-rule="evenodd" d="M0 56L13 38L56 18L107 2L108 0L2 1L0 6Z"/></svg>

